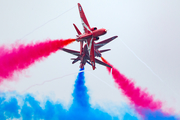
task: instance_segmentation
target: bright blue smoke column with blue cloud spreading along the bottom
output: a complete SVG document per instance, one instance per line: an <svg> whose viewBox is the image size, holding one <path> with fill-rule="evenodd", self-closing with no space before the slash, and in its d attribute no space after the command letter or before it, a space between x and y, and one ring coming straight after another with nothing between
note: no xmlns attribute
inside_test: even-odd
<svg viewBox="0 0 180 120"><path fill-rule="evenodd" d="M84 69L80 69L80 71L82 70ZM103 110L92 108L87 92L88 89L85 86L84 71L82 71L78 74L75 81L72 94L74 99L69 110L64 109L60 103L53 103L50 100L47 100L45 106L42 108L40 102L35 100L33 95L30 94L25 95L24 103L19 105L17 96L4 101L8 93L3 93L4 95L0 97L0 119L119 120L119 117L122 117L124 120L138 120L136 116L130 113L125 113L125 116L112 116ZM119 110L120 112L123 111L121 108Z"/></svg>

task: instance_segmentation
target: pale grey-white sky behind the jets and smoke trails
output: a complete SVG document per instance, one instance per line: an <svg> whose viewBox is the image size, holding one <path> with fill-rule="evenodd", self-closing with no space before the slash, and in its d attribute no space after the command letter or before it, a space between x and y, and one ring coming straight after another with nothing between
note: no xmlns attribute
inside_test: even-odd
<svg viewBox="0 0 180 120"><path fill-rule="evenodd" d="M91 27L108 30L99 41L118 36L103 47L111 49L103 57L135 81L137 86L163 101L164 110L172 108L179 114L180 2L177 0L1 1L0 44L75 38L77 33L73 23L83 31L77 3L81 3ZM79 43L74 42L66 48L79 50ZM4 82L1 91L33 93L38 100L49 96L68 108L79 70L79 63L71 64L70 58L74 57L63 51L53 53L22 73L17 73L13 82ZM128 103L104 66L97 65L93 71L91 66L86 65L85 70L92 105L113 109L105 104ZM58 80L26 90L57 77Z"/></svg>

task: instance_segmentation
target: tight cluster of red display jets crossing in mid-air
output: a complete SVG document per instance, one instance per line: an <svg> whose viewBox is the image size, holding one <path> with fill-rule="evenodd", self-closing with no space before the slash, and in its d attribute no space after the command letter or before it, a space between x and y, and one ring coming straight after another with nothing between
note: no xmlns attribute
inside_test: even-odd
<svg viewBox="0 0 180 120"><path fill-rule="evenodd" d="M97 29L97 27L91 28L80 3L78 3L78 9L84 28L84 33L82 34L80 30L77 28L77 26L75 24L73 25L78 33L77 38L75 39L77 42L80 42L80 51L70 50L66 48L61 48L61 50L77 56L77 58L72 58L71 60L73 60L72 64L76 63L77 61L81 61L80 68L83 68L86 63L90 64L93 70L96 68L95 63L111 68L110 65L98 60L95 57L101 57L101 53L109 51L110 49L99 50L99 48L111 42L118 36L113 36L111 38L96 43L95 41L99 40L99 36L106 34L107 30L104 28ZM83 46L84 42L86 44Z"/></svg>

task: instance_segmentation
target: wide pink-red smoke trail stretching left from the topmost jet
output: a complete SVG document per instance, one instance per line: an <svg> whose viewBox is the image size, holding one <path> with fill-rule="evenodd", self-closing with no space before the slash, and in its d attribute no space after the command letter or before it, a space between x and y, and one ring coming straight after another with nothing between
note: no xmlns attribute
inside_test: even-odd
<svg viewBox="0 0 180 120"><path fill-rule="evenodd" d="M15 71L28 68L36 61L42 60L51 53L56 52L75 41L67 40L47 40L44 42L31 44L15 44L12 48L0 47L0 83L3 79L12 78Z"/></svg>

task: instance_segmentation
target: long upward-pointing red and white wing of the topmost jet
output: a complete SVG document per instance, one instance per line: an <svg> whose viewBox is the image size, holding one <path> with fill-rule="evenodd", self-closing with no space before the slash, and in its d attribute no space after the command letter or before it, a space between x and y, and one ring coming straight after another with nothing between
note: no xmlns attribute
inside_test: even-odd
<svg viewBox="0 0 180 120"><path fill-rule="evenodd" d="M78 9L79 9L79 14L80 14L80 17L81 17L82 25L83 25L83 28L84 28L84 32L85 33L91 32L89 23L88 23L88 21L86 19L86 16L84 14L84 11L83 11L82 6L81 6L80 3L78 3Z"/></svg>

